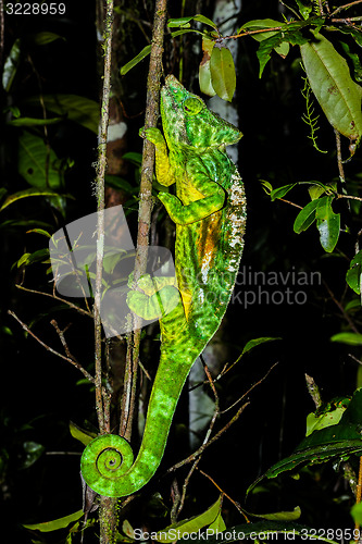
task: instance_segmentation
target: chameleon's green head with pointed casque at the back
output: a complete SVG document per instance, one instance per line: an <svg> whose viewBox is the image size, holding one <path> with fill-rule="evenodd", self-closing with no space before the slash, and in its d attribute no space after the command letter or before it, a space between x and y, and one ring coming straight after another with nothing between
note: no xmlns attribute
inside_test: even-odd
<svg viewBox="0 0 362 544"><path fill-rule="evenodd" d="M236 126L208 110L204 101L168 75L161 91L163 132L168 147L229 146L242 136Z"/></svg>

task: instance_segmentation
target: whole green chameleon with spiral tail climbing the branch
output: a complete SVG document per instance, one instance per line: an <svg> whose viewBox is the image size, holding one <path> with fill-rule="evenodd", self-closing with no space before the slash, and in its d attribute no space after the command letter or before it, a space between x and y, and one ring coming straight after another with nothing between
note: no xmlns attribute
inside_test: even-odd
<svg viewBox="0 0 362 544"><path fill-rule="evenodd" d="M158 128L147 129L146 137L155 146L159 183L176 184L176 196L160 193L159 198L176 223L178 288L170 280L162 285L162 279L153 283L143 276L141 290L128 294L127 304L138 316L151 319L158 312L161 357L135 462L129 444L113 434L95 438L82 456L87 484L110 497L136 492L159 467L187 375L226 311L244 246L244 186L225 152L241 133L173 75L161 91L161 115L165 139Z"/></svg>

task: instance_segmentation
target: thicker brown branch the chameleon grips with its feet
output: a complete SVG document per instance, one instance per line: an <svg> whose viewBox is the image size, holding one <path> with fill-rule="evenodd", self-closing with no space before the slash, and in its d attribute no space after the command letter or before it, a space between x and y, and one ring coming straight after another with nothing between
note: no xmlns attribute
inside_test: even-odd
<svg viewBox="0 0 362 544"><path fill-rule="evenodd" d="M153 32L152 32L152 48L150 55L150 66L147 79L147 101L145 128L155 126L160 111L160 76L162 66L163 53L163 35L166 22L166 0L157 0L154 8ZM151 225L152 211L152 175L154 165L154 147L145 140L142 150L142 169L139 193L139 213L138 213L138 233L137 233L137 251L135 263L135 282L146 272L147 268L147 248ZM129 440L133 415L136 405L136 385L137 385L137 369L140 346L140 320L135 317L134 334L132 346L132 372L133 383L130 390L129 406L127 409L126 434ZM125 413L125 412L124 412ZM125 423L121 421L121 429L125 429Z"/></svg>

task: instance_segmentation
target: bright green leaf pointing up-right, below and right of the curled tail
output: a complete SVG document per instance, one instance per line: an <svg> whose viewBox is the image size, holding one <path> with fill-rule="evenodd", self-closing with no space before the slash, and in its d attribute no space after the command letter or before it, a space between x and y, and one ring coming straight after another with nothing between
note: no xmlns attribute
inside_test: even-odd
<svg viewBox="0 0 362 544"><path fill-rule="evenodd" d="M197 533L203 527L213 523L220 511L222 505L222 497L220 497L216 503L214 503L208 510L205 510L200 516L195 516L194 518L179 521L177 523L172 523L171 526L158 531L157 542L174 542L179 540L185 534Z"/></svg>

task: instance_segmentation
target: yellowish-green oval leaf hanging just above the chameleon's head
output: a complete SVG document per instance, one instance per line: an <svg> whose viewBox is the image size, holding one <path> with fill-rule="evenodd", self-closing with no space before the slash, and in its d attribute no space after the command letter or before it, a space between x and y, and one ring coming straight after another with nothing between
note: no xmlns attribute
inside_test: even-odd
<svg viewBox="0 0 362 544"><path fill-rule="evenodd" d="M214 47L210 59L211 83L217 96L230 102L236 87L233 55L226 47Z"/></svg>

